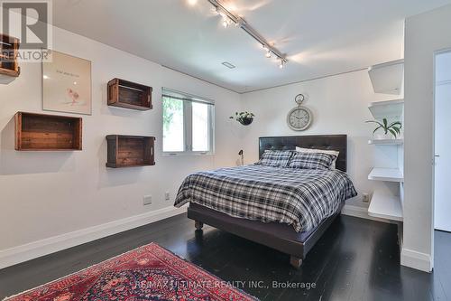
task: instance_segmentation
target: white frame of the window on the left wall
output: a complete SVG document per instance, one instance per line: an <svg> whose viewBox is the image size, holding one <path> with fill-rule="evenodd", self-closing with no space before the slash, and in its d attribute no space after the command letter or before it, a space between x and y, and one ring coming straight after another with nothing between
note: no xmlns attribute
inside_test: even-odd
<svg viewBox="0 0 451 301"><path fill-rule="evenodd" d="M179 155L215 155L215 101L211 99L203 99L197 96L179 92L174 89L161 88L161 103L163 98L179 99L183 101L183 151L164 151L164 133L162 133L161 151L163 155L179 156ZM193 102L203 103L208 105L208 150L207 151L193 151L192 150L192 104ZM161 109L161 116L163 112ZM163 120L161 118L161 124ZM164 131L164 127L161 127Z"/></svg>

